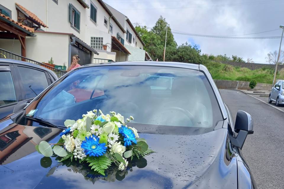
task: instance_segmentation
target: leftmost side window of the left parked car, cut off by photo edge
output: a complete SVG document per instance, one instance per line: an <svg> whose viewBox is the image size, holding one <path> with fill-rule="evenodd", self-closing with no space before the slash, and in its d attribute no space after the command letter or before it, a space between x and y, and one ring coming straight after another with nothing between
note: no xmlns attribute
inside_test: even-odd
<svg viewBox="0 0 284 189"><path fill-rule="evenodd" d="M0 71L0 106L17 102L11 71Z"/></svg>

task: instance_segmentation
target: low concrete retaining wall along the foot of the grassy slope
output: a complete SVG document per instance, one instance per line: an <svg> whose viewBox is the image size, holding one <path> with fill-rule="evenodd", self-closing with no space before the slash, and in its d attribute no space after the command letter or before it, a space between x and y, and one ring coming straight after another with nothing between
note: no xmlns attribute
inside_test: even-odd
<svg viewBox="0 0 284 189"><path fill-rule="evenodd" d="M247 90L250 89L249 82L243 81L230 81L230 80L214 80L218 89L240 89ZM257 83L254 89L256 90L271 90L272 84Z"/></svg>

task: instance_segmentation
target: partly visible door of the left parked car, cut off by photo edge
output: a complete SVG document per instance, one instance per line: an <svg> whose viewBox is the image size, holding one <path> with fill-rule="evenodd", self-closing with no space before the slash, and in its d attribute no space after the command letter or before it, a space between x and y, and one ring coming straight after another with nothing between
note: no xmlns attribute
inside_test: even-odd
<svg viewBox="0 0 284 189"><path fill-rule="evenodd" d="M21 99L19 83L12 65L0 65L0 119L13 113L14 106Z"/></svg>

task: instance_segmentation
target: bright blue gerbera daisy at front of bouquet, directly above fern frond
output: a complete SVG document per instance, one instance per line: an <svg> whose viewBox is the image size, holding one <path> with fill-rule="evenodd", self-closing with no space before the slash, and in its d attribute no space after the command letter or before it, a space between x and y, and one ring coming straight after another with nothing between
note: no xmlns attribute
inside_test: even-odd
<svg viewBox="0 0 284 189"><path fill-rule="evenodd" d="M100 144L99 138L96 135L93 135L93 137L89 136L89 138L85 138L86 140L82 142L81 148L84 149L86 155L99 157L106 153L106 144Z"/></svg>

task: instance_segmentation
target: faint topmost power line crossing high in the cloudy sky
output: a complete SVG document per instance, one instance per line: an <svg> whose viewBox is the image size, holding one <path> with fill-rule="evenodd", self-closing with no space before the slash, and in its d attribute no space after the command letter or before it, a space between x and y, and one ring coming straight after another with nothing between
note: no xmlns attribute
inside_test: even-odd
<svg viewBox="0 0 284 189"><path fill-rule="evenodd" d="M158 10L158 9L191 9L191 8L208 8L208 7L227 7L227 6L240 6L240 5L257 5L257 4L272 4L272 3L283 3L283 0L275 1L256 1L256 2L246 2L246 3L235 3L235 4L219 4L219 5L208 5L208 6L191 6L191 7L166 7L166 8L142 8L136 10ZM121 10L133 10L131 9L121 9Z"/></svg>

